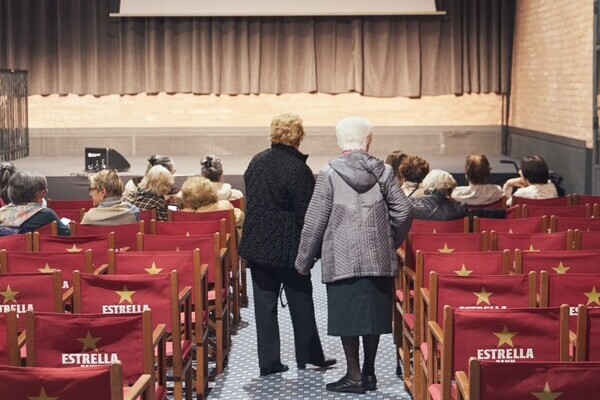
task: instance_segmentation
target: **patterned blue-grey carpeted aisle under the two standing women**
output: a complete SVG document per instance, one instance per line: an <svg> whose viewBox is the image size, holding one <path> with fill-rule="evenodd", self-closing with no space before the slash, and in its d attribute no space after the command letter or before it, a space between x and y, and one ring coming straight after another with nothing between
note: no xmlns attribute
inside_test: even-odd
<svg viewBox="0 0 600 400"><path fill-rule="evenodd" d="M242 309L242 324L232 337L232 351L225 372L211 382L208 399L410 399L400 378L395 375L396 357L392 335L382 336L377 353L378 390L364 395L337 394L325 390L325 384L345 373L345 359L339 338L327 336L327 296L321 283L321 270L312 275L317 325L326 356L338 363L327 370L315 367L298 371L294 356L292 322L289 309L279 306L282 362L290 370L268 377L259 376L256 355L256 327L252 282L248 273L249 306ZM284 297L284 302L285 297Z"/></svg>

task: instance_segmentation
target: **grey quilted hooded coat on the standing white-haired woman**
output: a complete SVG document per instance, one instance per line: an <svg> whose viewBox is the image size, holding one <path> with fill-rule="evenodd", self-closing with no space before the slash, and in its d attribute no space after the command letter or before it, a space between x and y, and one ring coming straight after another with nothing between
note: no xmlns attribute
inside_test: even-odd
<svg viewBox="0 0 600 400"><path fill-rule="evenodd" d="M387 207L380 183L387 188ZM395 249L411 222L412 207L389 165L362 151L337 157L317 177L296 269L308 273L321 254L324 283L395 276Z"/></svg>

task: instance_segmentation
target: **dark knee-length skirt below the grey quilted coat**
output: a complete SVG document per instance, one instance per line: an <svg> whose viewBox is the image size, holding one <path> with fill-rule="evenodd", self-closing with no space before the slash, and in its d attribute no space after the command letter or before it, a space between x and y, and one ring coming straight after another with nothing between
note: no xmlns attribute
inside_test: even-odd
<svg viewBox="0 0 600 400"><path fill-rule="evenodd" d="M381 335L392 332L391 277L349 278L327 284L327 334Z"/></svg>

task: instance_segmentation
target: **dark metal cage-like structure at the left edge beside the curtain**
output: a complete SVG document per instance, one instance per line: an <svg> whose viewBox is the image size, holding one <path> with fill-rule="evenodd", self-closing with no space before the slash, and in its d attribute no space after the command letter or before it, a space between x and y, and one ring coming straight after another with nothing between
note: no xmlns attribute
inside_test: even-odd
<svg viewBox="0 0 600 400"><path fill-rule="evenodd" d="M0 161L29 155L27 71L0 69Z"/></svg>

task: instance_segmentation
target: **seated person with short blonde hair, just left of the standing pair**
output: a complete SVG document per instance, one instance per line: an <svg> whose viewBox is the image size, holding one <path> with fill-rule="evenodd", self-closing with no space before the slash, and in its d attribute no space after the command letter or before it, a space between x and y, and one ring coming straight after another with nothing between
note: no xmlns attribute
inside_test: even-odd
<svg viewBox="0 0 600 400"><path fill-rule="evenodd" d="M191 176L181 186L183 209L187 212L208 212L234 209L235 225L238 230L238 240L241 237L244 213L234 208L227 200L219 200L212 182L201 176Z"/></svg>

